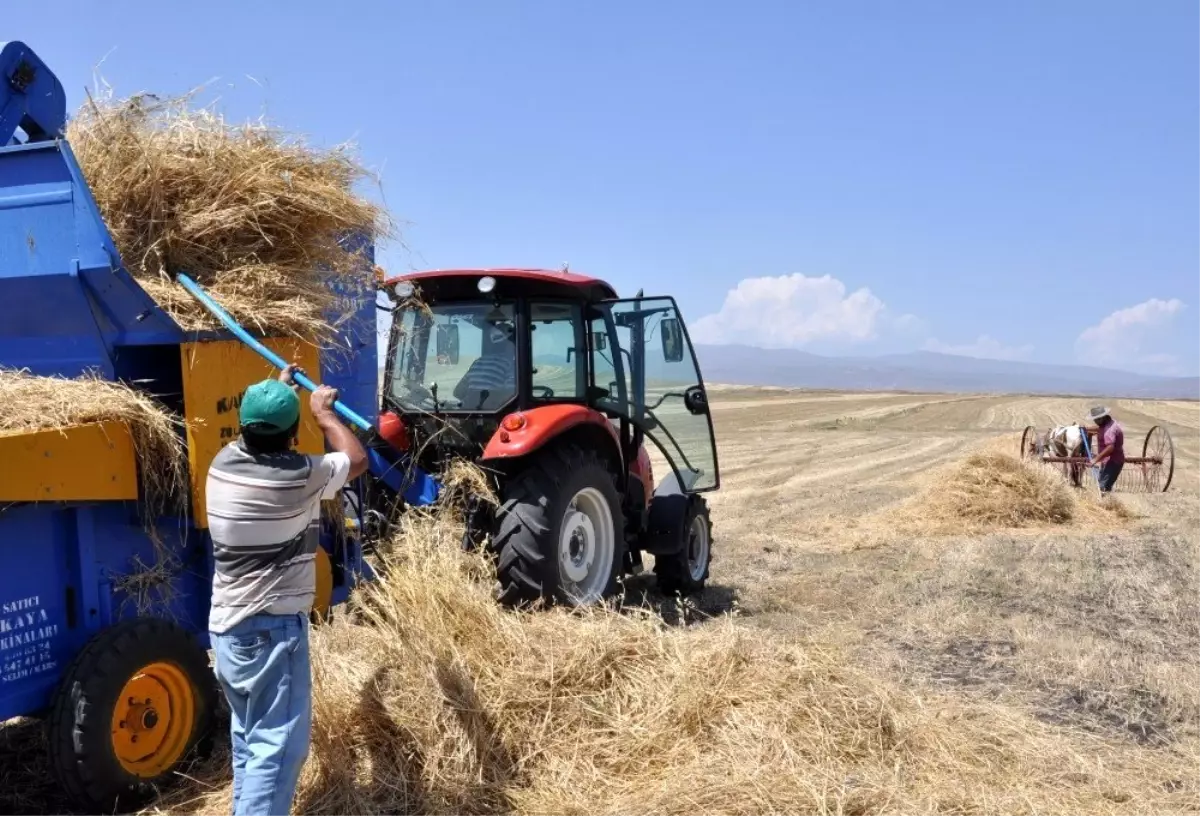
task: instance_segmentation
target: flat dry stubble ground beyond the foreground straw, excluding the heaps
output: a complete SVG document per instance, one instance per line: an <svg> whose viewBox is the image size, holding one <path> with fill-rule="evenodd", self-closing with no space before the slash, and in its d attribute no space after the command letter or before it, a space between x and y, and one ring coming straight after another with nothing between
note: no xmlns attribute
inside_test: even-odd
<svg viewBox="0 0 1200 816"><path fill-rule="evenodd" d="M1104 812L1200 812L1200 404L1112 404L1130 454L1154 424L1175 439L1170 492L1121 497L1133 520L1085 504L1093 518L1054 530L925 535L888 514L936 485L942 466L979 446L1015 451L1025 425L1082 418L1090 403L734 388L712 400L716 556L690 620L733 612L738 625L844 653L930 710L988 710L1006 739L1033 734L1030 751L1094 757L1054 784L1099 796ZM634 589L666 608L652 581ZM0 755L5 810L47 812L30 800L47 790L32 737L6 728L0 750L6 742L25 750ZM989 805L972 793L983 790L972 762L956 782L970 804L947 810L942 797L920 812L1049 812ZM954 762L940 772L954 782Z"/></svg>

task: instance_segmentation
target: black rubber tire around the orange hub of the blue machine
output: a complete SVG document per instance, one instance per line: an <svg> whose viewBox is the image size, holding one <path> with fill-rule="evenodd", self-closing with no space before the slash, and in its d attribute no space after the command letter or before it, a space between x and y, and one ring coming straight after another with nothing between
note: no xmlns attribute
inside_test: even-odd
<svg viewBox="0 0 1200 816"><path fill-rule="evenodd" d="M175 665L192 685L196 722L180 763L211 749L216 676L196 637L157 618L127 620L104 629L67 668L47 722L54 776L86 812L137 810L166 784L179 779L173 773L175 768L154 779L139 779L121 767L113 750L112 716L118 695L138 670L151 662Z"/></svg>

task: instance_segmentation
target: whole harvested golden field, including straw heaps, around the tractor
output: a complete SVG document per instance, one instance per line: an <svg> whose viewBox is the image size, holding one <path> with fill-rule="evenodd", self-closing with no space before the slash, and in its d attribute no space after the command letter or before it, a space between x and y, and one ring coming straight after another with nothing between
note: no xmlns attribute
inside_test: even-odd
<svg viewBox="0 0 1200 816"><path fill-rule="evenodd" d="M713 389L709 589L510 613L450 526L314 634L298 814L1174 814L1200 810L1200 420L1165 494L1013 458L1033 397ZM1200 415L1200 413L1198 413ZM1135 443L1136 440L1136 443ZM1118 493L1120 493L1118 484ZM6 812L47 812L29 727ZM224 758L157 814L228 812Z"/></svg>

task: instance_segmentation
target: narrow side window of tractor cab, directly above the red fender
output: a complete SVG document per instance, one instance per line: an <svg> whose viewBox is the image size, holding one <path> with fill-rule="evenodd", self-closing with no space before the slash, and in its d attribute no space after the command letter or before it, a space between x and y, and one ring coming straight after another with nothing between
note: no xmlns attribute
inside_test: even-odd
<svg viewBox="0 0 1200 816"><path fill-rule="evenodd" d="M534 400L581 400L587 391L583 316L574 304L529 306Z"/></svg>

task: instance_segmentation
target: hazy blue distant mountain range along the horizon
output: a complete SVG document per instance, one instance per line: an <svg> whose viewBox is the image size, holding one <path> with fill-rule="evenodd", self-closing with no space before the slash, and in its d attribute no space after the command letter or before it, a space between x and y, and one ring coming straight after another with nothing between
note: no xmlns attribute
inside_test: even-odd
<svg viewBox="0 0 1200 816"><path fill-rule="evenodd" d="M839 391L932 391L1200 400L1200 377L1150 377L1128 371L1010 362L914 352L832 358L792 349L697 346L708 383Z"/></svg>

